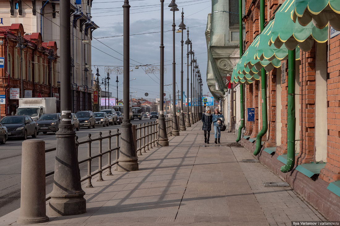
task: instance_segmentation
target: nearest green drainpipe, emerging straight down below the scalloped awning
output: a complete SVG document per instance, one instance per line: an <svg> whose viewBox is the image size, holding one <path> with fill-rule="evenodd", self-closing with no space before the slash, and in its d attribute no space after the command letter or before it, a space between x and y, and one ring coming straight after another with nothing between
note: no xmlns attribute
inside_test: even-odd
<svg viewBox="0 0 340 226"><path fill-rule="evenodd" d="M295 164L295 50L288 50L288 131L287 164L281 172L291 171Z"/></svg>

